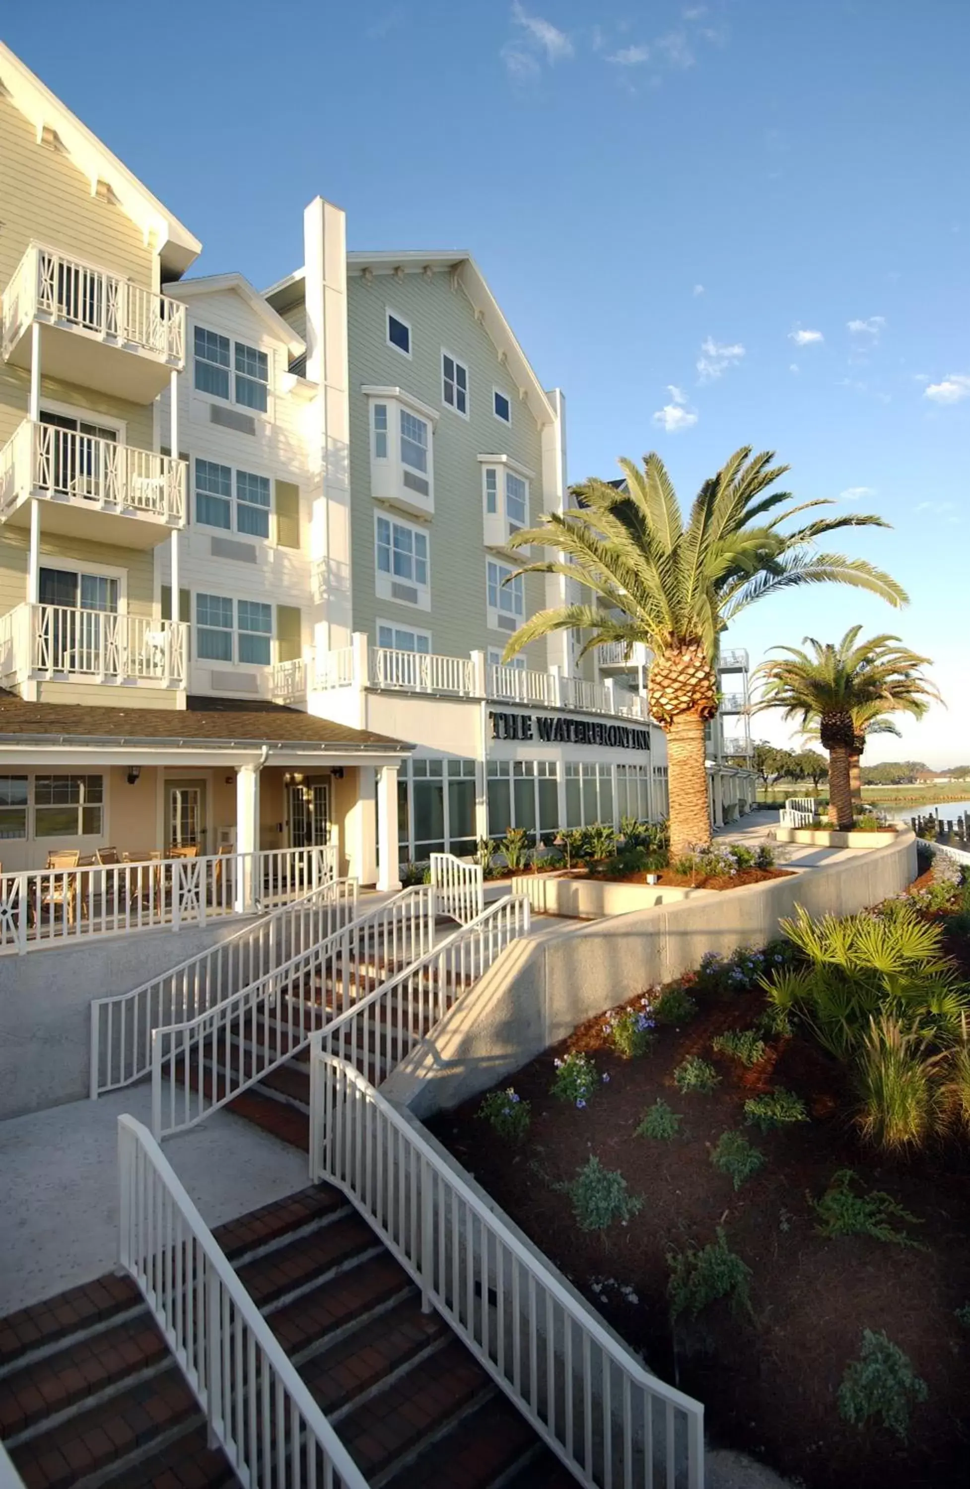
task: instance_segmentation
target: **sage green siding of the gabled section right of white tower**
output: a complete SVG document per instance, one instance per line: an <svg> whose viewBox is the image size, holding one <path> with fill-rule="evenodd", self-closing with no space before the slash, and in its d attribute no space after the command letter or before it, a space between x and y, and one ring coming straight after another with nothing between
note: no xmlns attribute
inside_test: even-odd
<svg viewBox="0 0 970 1489"><path fill-rule="evenodd" d="M432 649L450 655L501 648L508 633L487 628L486 561L480 454L508 454L533 472L529 482L530 523L542 511L539 426L519 401L508 371L462 289L447 272L374 275L367 283L353 270L347 281L350 329L350 490L353 502L353 628L375 637L377 616L398 625L431 630ZM387 308L411 325L411 357L386 342ZM469 374L469 417L443 402L441 351L457 357ZM440 409L434 432L435 512L431 521L431 613L378 600L374 593L374 502L370 500L368 399L362 384L396 386ZM492 411L492 390L508 393L511 426ZM501 563L508 558L499 557ZM526 579L526 612L542 609L544 584ZM526 652L529 666L545 666L545 643Z"/></svg>

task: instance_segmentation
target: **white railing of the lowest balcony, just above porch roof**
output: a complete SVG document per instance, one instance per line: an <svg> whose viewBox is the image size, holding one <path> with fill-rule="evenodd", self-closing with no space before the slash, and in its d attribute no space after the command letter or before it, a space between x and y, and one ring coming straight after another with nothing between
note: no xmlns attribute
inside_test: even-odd
<svg viewBox="0 0 970 1489"><path fill-rule="evenodd" d="M0 615L0 683L91 682L183 688L188 625L63 605Z"/></svg>

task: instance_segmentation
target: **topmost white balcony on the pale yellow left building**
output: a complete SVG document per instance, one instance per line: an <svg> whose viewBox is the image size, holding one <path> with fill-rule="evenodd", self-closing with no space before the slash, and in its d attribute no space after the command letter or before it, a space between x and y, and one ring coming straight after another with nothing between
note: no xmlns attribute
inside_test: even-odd
<svg viewBox="0 0 970 1489"><path fill-rule="evenodd" d="M152 404L185 366L185 305L31 243L3 292L4 362L30 368L45 328L45 377Z"/></svg>

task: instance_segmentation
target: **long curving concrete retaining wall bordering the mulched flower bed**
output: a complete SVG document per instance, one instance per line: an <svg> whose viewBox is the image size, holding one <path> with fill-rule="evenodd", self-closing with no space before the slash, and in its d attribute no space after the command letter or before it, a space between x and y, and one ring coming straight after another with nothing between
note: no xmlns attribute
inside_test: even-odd
<svg viewBox="0 0 970 1489"><path fill-rule="evenodd" d="M700 963L764 946L797 904L851 914L900 893L916 876L916 840L900 832L869 853L791 879L705 893L612 920L550 926L516 941L411 1051L381 1094L417 1117L457 1106L520 1069L578 1023Z"/></svg>

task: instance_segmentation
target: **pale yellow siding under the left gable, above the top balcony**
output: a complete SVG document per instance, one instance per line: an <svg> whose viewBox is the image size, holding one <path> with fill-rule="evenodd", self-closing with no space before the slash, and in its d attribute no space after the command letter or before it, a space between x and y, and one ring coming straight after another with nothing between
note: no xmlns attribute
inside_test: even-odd
<svg viewBox="0 0 970 1489"><path fill-rule="evenodd" d="M33 125L3 94L0 222L3 287L31 240L152 287L152 253L140 229L121 207L91 195L70 156L37 144Z"/></svg>

